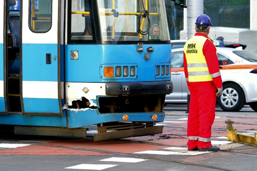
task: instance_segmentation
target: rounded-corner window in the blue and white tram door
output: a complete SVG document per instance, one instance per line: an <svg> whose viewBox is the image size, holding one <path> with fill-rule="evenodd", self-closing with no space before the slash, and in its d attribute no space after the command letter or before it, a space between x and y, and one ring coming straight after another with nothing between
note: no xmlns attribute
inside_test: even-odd
<svg viewBox="0 0 257 171"><path fill-rule="evenodd" d="M32 32L45 33L52 25L52 0L30 0L29 27Z"/></svg>

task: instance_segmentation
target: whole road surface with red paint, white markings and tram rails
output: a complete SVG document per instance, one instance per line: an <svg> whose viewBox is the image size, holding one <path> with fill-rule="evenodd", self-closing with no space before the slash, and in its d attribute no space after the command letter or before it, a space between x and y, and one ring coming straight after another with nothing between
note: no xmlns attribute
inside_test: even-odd
<svg viewBox="0 0 257 171"><path fill-rule="evenodd" d="M94 142L92 138L8 135L0 137L0 171L255 170L257 147L227 141L225 121L239 132L257 131L257 112L216 110L211 142L218 152L187 150L186 107L167 110L163 133ZM94 131L92 126L89 131Z"/></svg>

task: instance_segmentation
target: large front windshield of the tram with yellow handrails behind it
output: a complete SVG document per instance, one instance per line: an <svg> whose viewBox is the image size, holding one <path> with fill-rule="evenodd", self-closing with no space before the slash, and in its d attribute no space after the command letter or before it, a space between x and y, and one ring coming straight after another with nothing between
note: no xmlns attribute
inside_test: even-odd
<svg viewBox="0 0 257 171"><path fill-rule="evenodd" d="M102 41L170 39L163 1L98 0L97 5Z"/></svg>

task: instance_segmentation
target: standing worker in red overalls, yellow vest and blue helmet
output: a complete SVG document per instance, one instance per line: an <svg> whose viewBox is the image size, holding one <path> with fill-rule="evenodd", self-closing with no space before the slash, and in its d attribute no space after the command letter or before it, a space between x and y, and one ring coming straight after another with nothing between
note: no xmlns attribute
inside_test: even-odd
<svg viewBox="0 0 257 171"><path fill-rule="evenodd" d="M201 14L195 22L195 36L184 46L184 69L190 91L187 122L189 151L219 151L211 145L216 96L222 94L222 80L216 47L208 37L211 19Z"/></svg>

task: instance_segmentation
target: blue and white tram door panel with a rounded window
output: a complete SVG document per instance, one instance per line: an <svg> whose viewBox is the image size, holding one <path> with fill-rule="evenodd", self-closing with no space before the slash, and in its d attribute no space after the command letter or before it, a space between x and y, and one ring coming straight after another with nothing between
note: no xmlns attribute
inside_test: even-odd
<svg viewBox="0 0 257 171"><path fill-rule="evenodd" d="M59 4L60 0L22 1L22 113L62 115Z"/></svg>

